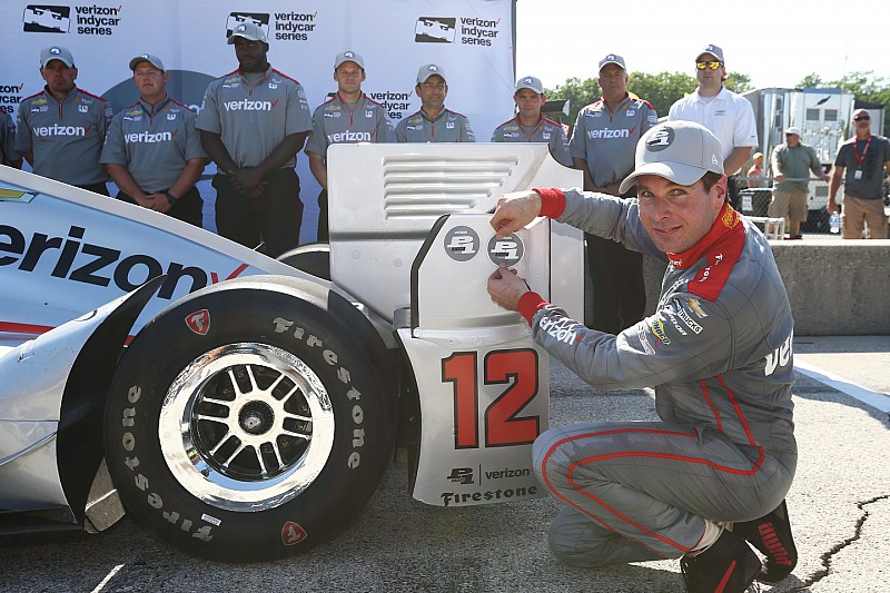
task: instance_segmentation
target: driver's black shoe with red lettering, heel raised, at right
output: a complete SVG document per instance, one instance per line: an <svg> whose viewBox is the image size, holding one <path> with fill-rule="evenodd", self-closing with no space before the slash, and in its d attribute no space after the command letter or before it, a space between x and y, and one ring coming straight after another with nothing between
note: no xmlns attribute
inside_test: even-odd
<svg viewBox="0 0 890 593"><path fill-rule="evenodd" d="M767 556L764 570L758 575L763 583L778 583L794 570L798 564L798 548L791 536L791 522L788 520L785 502L754 521L736 523L732 532L744 537Z"/></svg>

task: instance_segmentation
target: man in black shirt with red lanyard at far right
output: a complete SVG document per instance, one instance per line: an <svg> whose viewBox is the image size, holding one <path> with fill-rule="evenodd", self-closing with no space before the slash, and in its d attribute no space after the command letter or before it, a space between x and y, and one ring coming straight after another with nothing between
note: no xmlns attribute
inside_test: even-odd
<svg viewBox="0 0 890 593"><path fill-rule="evenodd" d="M843 238L861 239L864 224L868 238L886 239L883 179L884 175L890 175L890 141L882 136L872 136L871 116L866 109L857 109L853 113L853 128L856 137L841 145L834 159L828 190L828 211L838 211L834 195L843 179Z"/></svg>

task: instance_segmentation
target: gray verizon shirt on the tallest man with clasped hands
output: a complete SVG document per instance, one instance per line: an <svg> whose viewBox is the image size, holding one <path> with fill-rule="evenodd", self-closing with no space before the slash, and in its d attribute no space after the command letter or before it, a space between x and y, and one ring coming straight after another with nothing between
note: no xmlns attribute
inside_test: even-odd
<svg viewBox="0 0 890 593"><path fill-rule="evenodd" d="M240 70L207 87L196 127L219 134L238 167L256 167L286 136L312 130L303 86L269 67L253 85ZM296 157L281 168L294 168Z"/></svg>

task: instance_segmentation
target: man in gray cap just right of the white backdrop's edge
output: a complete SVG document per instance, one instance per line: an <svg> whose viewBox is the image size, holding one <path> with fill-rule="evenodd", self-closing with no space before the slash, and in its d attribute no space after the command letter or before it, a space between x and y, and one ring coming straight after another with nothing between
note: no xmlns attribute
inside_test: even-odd
<svg viewBox="0 0 890 593"><path fill-rule="evenodd" d="M541 79L526 76L516 81L516 117L501 123L492 134L493 142L544 142L550 154L566 167L572 166L568 154L568 139L565 130L557 122L541 115L541 108L547 102L544 85Z"/></svg>

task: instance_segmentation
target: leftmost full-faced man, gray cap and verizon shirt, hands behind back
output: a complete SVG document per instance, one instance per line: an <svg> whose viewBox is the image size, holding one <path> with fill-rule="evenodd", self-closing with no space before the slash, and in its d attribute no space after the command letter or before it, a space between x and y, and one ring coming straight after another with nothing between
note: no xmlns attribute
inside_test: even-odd
<svg viewBox="0 0 890 593"><path fill-rule="evenodd" d="M40 52L47 85L19 105L16 149L37 175L108 196L108 174L99 164L111 107L75 86L78 69L66 48Z"/></svg>

